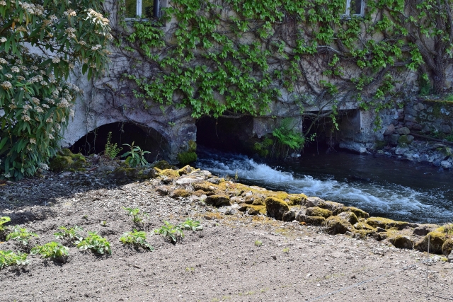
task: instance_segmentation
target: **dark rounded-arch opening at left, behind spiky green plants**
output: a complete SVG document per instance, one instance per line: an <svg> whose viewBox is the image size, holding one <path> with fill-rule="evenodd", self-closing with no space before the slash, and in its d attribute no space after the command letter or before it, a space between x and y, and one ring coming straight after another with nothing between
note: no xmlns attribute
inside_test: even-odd
<svg viewBox="0 0 453 302"><path fill-rule="evenodd" d="M170 151L167 139L155 129L131 122L104 124L88 132L69 149L75 153L81 152L86 156L93 153L103 153L109 132L112 132L110 143L117 144L119 148L122 148L118 156L130 150L128 146L123 146L123 144L132 145L132 142L134 146L139 146L142 150L151 152L145 156L149 162L166 159L166 154Z"/></svg>

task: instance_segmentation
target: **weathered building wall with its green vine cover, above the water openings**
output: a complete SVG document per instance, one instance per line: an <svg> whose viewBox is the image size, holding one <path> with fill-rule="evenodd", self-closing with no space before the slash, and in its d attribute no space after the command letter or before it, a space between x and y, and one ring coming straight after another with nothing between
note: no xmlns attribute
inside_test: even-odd
<svg viewBox="0 0 453 302"><path fill-rule="evenodd" d="M126 20L125 0L106 1L115 46L92 87L98 104L111 104L85 112L139 115L178 137L204 115L331 117L336 126L341 110L396 108L420 83L443 92L452 1L366 0L360 16L344 16L345 2L169 0L161 18Z"/></svg>

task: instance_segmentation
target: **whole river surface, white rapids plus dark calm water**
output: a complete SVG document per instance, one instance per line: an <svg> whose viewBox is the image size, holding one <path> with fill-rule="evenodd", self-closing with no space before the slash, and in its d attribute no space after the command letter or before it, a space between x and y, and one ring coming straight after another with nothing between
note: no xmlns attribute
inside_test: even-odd
<svg viewBox="0 0 453 302"><path fill-rule="evenodd" d="M198 150L197 168L268 190L304 193L358 207L371 216L417 223L453 221L453 174L430 165L344 152L305 153L295 161L258 163L233 153Z"/></svg>

